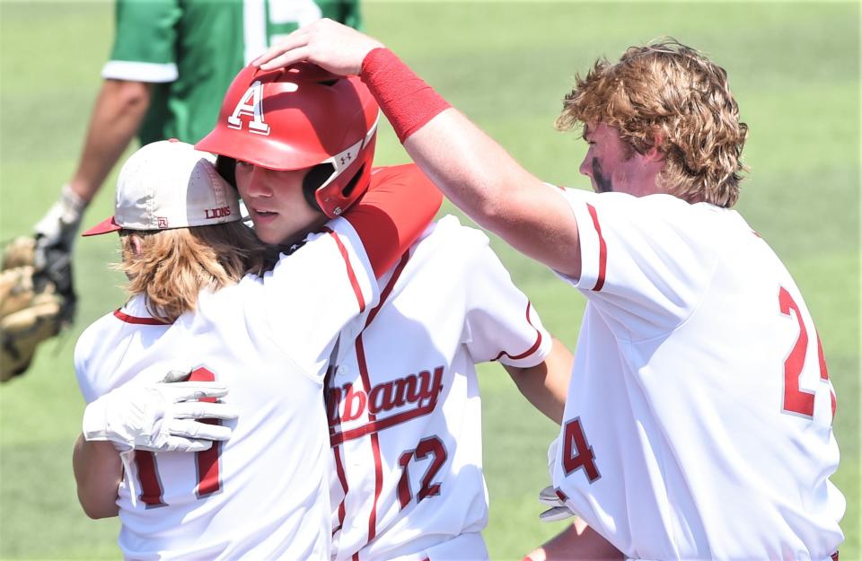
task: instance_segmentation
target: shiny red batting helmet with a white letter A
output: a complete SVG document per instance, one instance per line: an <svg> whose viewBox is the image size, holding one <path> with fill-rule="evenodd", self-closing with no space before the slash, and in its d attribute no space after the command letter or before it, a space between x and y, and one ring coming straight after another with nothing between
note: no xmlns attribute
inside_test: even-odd
<svg viewBox="0 0 862 561"><path fill-rule="evenodd" d="M312 168L305 197L332 217L368 188L378 111L355 76L308 63L271 72L246 66L224 96L216 127L195 147L270 170Z"/></svg>

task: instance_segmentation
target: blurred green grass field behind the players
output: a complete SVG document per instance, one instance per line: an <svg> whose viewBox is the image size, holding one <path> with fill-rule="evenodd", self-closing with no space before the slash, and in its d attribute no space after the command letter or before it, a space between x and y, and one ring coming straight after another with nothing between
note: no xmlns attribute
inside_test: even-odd
<svg viewBox="0 0 862 561"><path fill-rule="evenodd" d="M858 3L383 3L366 29L544 180L588 188L584 144L552 124L576 72L601 55L663 35L725 66L751 127L752 169L739 209L796 276L817 322L838 393L842 451L832 480L848 499L841 559L862 559L859 436ZM28 232L74 171L112 37L105 2L0 0L0 240ZM407 157L384 125L379 163ZM110 215L113 179L84 219ZM75 339L123 300L106 270L116 241L81 241L77 322L40 348L22 379L0 389L0 557L117 559L118 523L93 522L75 499L71 451L84 401ZM542 314L574 346L584 300L544 268L495 241ZM555 427L497 366L482 369L492 557L520 559L561 530L542 525ZM763 434L764 439L770 434ZM745 497L727 497L744 508Z"/></svg>

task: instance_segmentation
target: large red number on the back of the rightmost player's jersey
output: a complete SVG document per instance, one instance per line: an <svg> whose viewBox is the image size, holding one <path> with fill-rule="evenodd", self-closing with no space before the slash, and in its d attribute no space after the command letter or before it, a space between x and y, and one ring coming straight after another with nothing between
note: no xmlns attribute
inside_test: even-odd
<svg viewBox="0 0 862 561"><path fill-rule="evenodd" d="M793 296L783 286L778 290L778 306L781 313L787 317L790 317L792 312L796 316L796 323L799 325L799 335L796 337L796 344L784 361L784 404L782 411L814 418L814 393L799 389L799 376L802 375L802 369L805 366L805 355L808 351L808 330L805 329L805 321L802 320L799 306L794 301ZM814 331L814 337L817 337L817 360L820 363L820 379L829 383L826 360L823 358L823 346L816 330ZM835 393L832 392L831 388L830 395L832 399L832 416L834 417Z"/></svg>

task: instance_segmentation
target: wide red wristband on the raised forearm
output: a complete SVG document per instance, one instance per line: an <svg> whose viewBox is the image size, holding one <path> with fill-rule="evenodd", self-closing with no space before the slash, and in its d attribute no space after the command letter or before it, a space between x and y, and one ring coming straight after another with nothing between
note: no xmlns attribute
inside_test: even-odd
<svg viewBox="0 0 862 561"><path fill-rule="evenodd" d="M361 78L402 143L452 107L388 48L374 48L365 55Z"/></svg>

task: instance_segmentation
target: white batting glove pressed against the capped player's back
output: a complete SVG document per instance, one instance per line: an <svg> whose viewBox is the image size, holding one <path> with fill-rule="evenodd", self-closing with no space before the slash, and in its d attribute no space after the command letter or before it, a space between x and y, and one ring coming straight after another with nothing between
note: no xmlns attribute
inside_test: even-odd
<svg viewBox="0 0 862 561"><path fill-rule="evenodd" d="M221 398L227 388L213 381L178 381L188 373L169 373L165 380L121 386L84 410L84 438L110 441L118 451L204 451L213 441L227 440L231 428L198 419L234 419L225 403L198 401Z"/></svg>

